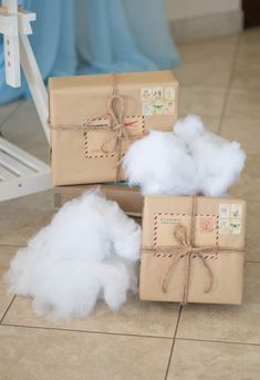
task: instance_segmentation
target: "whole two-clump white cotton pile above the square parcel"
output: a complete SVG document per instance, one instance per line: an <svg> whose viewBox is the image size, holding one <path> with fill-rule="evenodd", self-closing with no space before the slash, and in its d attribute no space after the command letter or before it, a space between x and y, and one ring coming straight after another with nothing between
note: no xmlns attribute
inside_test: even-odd
<svg viewBox="0 0 260 380"><path fill-rule="evenodd" d="M188 115L174 132L152 131L132 144L123 165L129 185L141 186L144 195L223 196L245 160L237 142L210 133L200 117Z"/></svg>

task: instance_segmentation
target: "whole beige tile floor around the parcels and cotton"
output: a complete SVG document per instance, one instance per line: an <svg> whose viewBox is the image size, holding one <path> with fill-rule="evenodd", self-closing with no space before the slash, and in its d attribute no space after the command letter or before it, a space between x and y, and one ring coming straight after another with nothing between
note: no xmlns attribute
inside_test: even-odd
<svg viewBox="0 0 260 380"><path fill-rule="evenodd" d="M260 29L179 47L180 115L240 141L247 167L232 194L248 201L245 299L241 307L139 302L70 323L35 316L30 301L0 281L0 380L260 379ZM48 160L34 106L0 109L7 138ZM0 204L0 274L53 214L45 192Z"/></svg>

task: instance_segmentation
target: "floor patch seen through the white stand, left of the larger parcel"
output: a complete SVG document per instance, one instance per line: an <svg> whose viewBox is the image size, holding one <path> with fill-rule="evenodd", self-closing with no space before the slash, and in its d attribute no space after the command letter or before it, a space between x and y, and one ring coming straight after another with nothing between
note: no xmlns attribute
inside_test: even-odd
<svg viewBox="0 0 260 380"><path fill-rule="evenodd" d="M7 140L49 162L49 145L32 101L24 102L2 127Z"/></svg>

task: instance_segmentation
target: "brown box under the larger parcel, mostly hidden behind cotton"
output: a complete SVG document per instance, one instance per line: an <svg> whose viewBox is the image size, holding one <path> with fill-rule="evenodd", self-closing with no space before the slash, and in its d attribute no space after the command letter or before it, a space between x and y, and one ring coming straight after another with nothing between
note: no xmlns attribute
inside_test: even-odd
<svg viewBox="0 0 260 380"><path fill-rule="evenodd" d="M82 195L86 191L95 189L96 185L59 186L54 188L55 207L60 208L64 203ZM100 185L98 188L107 197L115 201L119 207L131 216L142 217L144 197L138 187Z"/></svg>

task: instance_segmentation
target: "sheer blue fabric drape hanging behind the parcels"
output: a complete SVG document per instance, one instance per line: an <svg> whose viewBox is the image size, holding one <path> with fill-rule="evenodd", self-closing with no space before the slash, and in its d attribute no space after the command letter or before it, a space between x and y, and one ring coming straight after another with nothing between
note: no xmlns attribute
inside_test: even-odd
<svg viewBox="0 0 260 380"><path fill-rule="evenodd" d="M42 76L160 70L178 64L163 0L23 0L37 12L30 41ZM0 41L0 103L28 96L4 84Z"/></svg>

